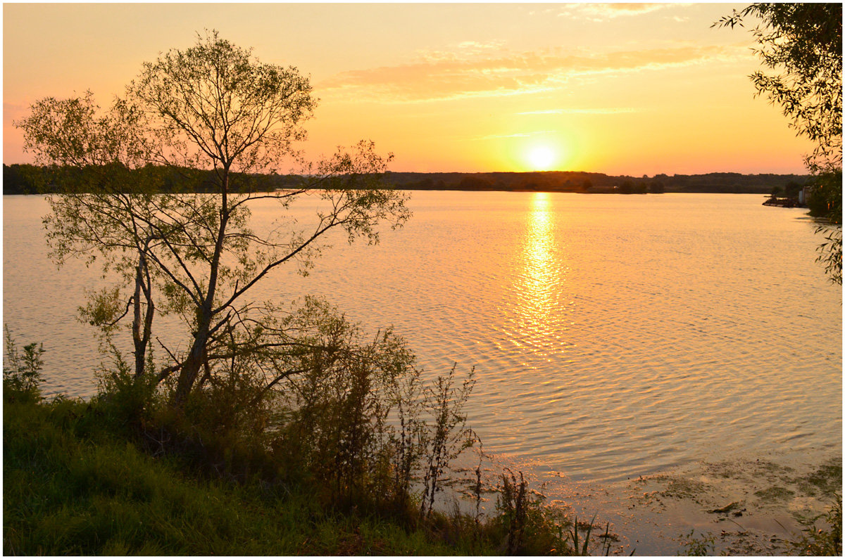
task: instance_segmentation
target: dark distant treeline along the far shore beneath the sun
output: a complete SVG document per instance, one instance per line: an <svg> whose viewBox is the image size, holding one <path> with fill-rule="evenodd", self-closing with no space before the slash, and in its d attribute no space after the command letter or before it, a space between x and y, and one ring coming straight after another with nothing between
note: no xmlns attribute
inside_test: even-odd
<svg viewBox="0 0 845 559"><path fill-rule="evenodd" d="M57 193L74 170L32 165L3 165L3 194ZM150 170L130 171L144 173ZM207 192L214 171L194 169L156 169L155 184L161 192ZM149 178L149 176L147 176ZM807 175L742 175L708 173L706 175L611 176L581 171L544 171L526 173L410 173L390 172L385 180L403 190L479 190L560 193L750 193L769 194L789 183L803 185ZM237 175L232 190L272 191L303 183L297 175Z"/></svg>

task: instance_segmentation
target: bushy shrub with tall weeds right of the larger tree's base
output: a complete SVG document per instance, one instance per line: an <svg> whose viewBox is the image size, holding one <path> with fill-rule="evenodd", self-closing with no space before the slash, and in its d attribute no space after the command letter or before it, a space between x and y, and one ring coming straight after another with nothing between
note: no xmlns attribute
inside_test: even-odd
<svg viewBox="0 0 845 559"><path fill-rule="evenodd" d="M423 478L429 513L444 469L474 437L461 413L472 372L454 387L455 368L424 383L414 356L390 331L363 342L359 328L316 300L318 328L286 378L272 442L292 479L307 476L330 502L404 510ZM307 315L305 315L307 316Z"/></svg>

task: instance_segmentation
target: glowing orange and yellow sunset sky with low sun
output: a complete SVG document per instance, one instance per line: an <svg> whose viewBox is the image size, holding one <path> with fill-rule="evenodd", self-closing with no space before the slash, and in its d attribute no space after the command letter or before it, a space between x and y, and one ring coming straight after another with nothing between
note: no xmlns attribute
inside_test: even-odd
<svg viewBox="0 0 845 559"><path fill-rule="evenodd" d="M750 29L717 3L3 4L3 162L46 96L101 106L218 30L308 75L313 157L370 139L391 171L804 173L812 149L755 97Z"/></svg>

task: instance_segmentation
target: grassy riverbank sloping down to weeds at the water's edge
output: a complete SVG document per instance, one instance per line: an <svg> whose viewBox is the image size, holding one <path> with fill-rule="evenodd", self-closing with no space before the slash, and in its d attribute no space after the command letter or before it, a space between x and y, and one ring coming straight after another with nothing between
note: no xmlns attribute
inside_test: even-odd
<svg viewBox="0 0 845 559"><path fill-rule="evenodd" d="M326 502L307 482L151 453L96 400L39 402L30 389L16 400L5 384L4 555L577 555L607 540L543 506L521 476L479 488L497 493L486 516Z"/></svg>

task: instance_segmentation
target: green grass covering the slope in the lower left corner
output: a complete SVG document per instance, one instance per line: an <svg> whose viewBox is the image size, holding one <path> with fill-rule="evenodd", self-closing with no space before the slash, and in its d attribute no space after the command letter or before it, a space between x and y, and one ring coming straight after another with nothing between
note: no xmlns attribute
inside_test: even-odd
<svg viewBox="0 0 845 559"><path fill-rule="evenodd" d="M3 408L6 555L466 555L493 545L333 513L303 491L186 475L81 402Z"/></svg>

